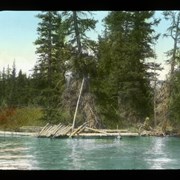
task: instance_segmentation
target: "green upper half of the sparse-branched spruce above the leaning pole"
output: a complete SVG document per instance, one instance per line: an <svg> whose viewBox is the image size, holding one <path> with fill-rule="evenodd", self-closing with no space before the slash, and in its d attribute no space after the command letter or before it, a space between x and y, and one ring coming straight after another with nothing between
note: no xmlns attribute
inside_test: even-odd
<svg viewBox="0 0 180 180"><path fill-rule="evenodd" d="M95 29L97 21L88 18L87 12L84 11L65 11L62 15L68 29L67 43L72 47L71 52L74 55L72 58L74 71L78 77L87 76L88 63L92 60L84 57L88 57L90 52L94 53L96 43L88 38L86 33Z"/></svg>

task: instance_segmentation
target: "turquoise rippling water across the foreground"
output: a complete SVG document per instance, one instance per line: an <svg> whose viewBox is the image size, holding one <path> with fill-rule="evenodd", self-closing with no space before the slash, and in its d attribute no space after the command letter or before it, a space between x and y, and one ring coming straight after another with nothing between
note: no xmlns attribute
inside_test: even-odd
<svg viewBox="0 0 180 180"><path fill-rule="evenodd" d="M0 169L180 169L180 138L0 137Z"/></svg>

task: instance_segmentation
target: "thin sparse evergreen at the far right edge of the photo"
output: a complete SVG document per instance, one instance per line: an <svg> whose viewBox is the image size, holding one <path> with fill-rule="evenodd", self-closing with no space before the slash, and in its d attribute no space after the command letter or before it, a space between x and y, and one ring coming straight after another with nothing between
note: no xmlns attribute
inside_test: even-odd
<svg viewBox="0 0 180 180"><path fill-rule="evenodd" d="M175 66L179 64L179 41L180 41L180 12L177 11L164 11L163 12L165 20L170 21L170 26L167 28L167 33L164 34L165 37L170 37L173 40L173 48L166 52L169 59L167 62L170 64L170 77L168 81L168 101L166 111L166 117L164 118L164 129L166 130L166 125L168 120L176 121L179 118L179 71L176 71Z"/></svg>

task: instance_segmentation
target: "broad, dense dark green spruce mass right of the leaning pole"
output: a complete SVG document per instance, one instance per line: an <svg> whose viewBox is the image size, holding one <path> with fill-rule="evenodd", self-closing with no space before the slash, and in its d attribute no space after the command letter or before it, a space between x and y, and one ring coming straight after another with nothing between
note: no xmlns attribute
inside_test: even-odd
<svg viewBox="0 0 180 180"><path fill-rule="evenodd" d="M110 12L104 19L106 31L99 38L96 91L104 119L116 124L143 121L153 114L150 74L146 59L154 57L154 12ZM118 121L120 120L120 121ZM122 121L121 121L122 120Z"/></svg>

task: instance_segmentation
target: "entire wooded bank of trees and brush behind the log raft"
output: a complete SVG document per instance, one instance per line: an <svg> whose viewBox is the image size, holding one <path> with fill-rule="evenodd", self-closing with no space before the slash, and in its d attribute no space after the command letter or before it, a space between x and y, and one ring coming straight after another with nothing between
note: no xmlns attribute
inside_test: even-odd
<svg viewBox="0 0 180 180"><path fill-rule="evenodd" d="M171 25L162 34L174 43L164 81L155 61L160 34L154 27L161 20L155 13L111 11L95 41L87 36L96 30L91 12L40 12L32 74L17 72L15 62L0 72L0 129L87 122L97 129L179 134L180 12L163 12Z"/></svg>

